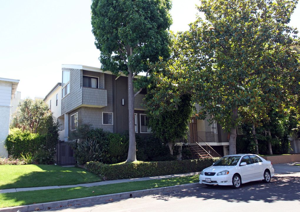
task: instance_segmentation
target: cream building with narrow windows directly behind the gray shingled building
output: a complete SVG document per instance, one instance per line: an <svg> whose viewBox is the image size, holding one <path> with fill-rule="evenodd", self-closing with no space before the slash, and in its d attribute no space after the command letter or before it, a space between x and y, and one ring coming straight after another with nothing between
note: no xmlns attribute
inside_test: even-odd
<svg viewBox="0 0 300 212"><path fill-rule="evenodd" d="M61 82L58 82L52 90L44 98L44 102L49 105L53 115L58 118L59 127L59 140L64 140L64 115L61 115Z"/></svg>

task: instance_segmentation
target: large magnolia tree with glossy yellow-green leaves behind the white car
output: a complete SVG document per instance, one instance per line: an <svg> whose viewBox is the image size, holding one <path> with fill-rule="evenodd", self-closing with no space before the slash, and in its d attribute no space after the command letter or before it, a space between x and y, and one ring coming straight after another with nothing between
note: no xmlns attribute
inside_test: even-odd
<svg viewBox="0 0 300 212"><path fill-rule="evenodd" d="M160 89L152 102L161 110L176 108L185 93L199 103L198 117L210 115L229 133L235 154L240 111L265 118L271 108L299 103L299 56L296 31L289 27L297 1L208 0L198 7L190 30L177 35L172 63L157 65ZM164 69L165 72L159 72Z"/></svg>

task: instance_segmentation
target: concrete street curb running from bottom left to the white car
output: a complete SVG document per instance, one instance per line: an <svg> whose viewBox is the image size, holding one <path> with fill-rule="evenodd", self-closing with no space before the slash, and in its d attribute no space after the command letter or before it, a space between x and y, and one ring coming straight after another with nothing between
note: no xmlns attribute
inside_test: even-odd
<svg viewBox="0 0 300 212"><path fill-rule="evenodd" d="M178 191L184 190L189 188L198 188L202 187L202 184L199 183L190 183L184 185L177 185L177 186L170 186L170 187L161 187L155 189L146 189L140 191L131 191L131 192L123 192L123 193L116 193L116 194L107 194L101 196L93 196L93 197L85 197L79 199L69 199L69 200L62 200L56 202L47 202L47 203L38 203L34 205L22 205L22 206L15 206L10 208L0 208L0 212L28 212L28 211L35 211L36 208L39 210L45 210L50 208L60 208L60 207L67 207L67 206L74 206L74 205L83 205L83 204L91 204L91 203L100 203L100 202L107 202L110 199L119 200L119 199L128 199L131 197L139 197L145 195L152 195L158 193L166 193L171 191Z"/></svg>

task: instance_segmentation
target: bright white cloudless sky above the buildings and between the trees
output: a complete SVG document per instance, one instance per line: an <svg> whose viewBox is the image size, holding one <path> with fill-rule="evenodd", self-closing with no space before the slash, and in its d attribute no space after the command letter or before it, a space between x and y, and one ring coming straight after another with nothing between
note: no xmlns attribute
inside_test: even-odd
<svg viewBox="0 0 300 212"><path fill-rule="evenodd" d="M198 3L173 0L171 30L187 30ZM61 64L101 66L90 6L90 0L0 0L0 77L19 79L22 99L45 97L61 82ZM298 29L299 7L290 22Z"/></svg>

